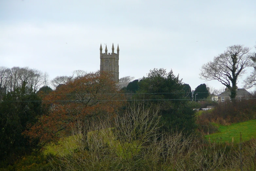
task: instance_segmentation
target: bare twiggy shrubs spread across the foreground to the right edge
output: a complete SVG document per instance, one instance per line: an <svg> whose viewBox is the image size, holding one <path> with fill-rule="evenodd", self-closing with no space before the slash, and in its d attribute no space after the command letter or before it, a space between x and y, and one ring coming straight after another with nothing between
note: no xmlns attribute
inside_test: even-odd
<svg viewBox="0 0 256 171"><path fill-rule="evenodd" d="M54 170L206 171L237 170L241 165L245 170L255 168L255 140L228 144L198 141L177 132L159 133L160 115L152 111L133 106L117 116L114 127L101 123L95 125L99 130L93 128L87 138L77 134L81 136L74 136L76 150L70 148L67 155L59 156L59 167Z"/></svg>

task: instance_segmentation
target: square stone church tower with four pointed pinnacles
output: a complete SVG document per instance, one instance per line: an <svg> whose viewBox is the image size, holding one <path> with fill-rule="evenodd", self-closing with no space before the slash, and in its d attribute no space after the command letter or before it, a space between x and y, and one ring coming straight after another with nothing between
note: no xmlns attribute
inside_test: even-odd
<svg viewBox="0 0 256 171"><path fill-rule="evenodd" d="M112 44L112 53L108 53L107 45L105 53L102 53L100 47L101 66L100 71L109 72L113 76L113 80L119 81L119 45L117 45L117 53L114 53L114 43Z"/></svg>

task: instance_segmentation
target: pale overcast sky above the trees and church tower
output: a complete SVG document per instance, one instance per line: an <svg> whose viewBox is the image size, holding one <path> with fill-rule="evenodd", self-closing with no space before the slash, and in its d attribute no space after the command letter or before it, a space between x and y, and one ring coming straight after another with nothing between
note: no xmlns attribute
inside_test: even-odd
<svg viewBox="0 0 256 171"><path fill-rule="evenodd" d="M256 44L255 0L0 0L0 66L51 78L100 69L100 44L119 44L119 78L173 70L195 89L202 64ZM249 74L250 70L248 71ZM242 79L238 87L242 87Z"/></svg>

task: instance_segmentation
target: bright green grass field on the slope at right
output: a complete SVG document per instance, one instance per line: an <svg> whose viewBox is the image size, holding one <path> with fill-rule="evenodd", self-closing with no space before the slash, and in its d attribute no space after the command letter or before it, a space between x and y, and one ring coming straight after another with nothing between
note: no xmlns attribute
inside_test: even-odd
<svg viewBox="0 0 256 171"><path fill-rule="evenodd" d="M206 139L210 137L211 142L232 142L233 137L234 142L237 143L240 141L240 132L243 142L256 138L256 119L227 126L216 124L216 126L220 132L205 136Z"/></svg>

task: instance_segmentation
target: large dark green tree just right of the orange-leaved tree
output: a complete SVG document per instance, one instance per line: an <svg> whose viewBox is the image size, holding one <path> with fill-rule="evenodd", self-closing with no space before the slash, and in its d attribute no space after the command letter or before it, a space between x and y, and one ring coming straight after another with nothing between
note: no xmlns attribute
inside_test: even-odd
<svg viewBox="0 0 256 171"><path fill-rule="evenodd" d="M138 82L136 98L144 100L148 106L160 106L161 125L165 131L193 132L196 128L195 113L189 105L184 84L171 70L150 70L147 77Z"/></svg>

